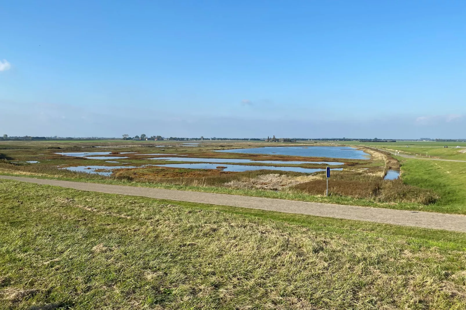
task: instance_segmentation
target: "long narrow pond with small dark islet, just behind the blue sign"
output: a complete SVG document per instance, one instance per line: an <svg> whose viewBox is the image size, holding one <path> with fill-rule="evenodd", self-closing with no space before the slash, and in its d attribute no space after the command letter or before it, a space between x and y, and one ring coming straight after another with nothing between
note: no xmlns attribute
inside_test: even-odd
<svg viewBox="0 0 466 310"><path fill-rule="evenodd" d="M301 167L274 167L274 166L247 166L247 165L229 165L211 163L185 163L185 164L166 164L166 165L155 165L159 167L169 167L169 168L188 168L188 169L221 169L222 171L231 171L231 172L242 172L242 171L252 171L252 170L280 170L280 171L293 171L293 172L304 172L304 173L314 173L317 171L325 171L325 169L312 169L312 168L301 168ZM217 168L222 167L222 168ZM331 170L343 170L343 168L333 168Z"/></svg>

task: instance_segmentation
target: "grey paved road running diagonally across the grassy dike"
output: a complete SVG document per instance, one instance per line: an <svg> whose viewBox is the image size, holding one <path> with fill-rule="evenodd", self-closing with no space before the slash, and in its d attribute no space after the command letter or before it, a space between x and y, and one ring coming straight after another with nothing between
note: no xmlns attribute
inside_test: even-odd
<svg viewBox="0 0 466 310"><path fill-rule="evenodd" d="M327 216L348 220L370 221L386 224L466 232L466 216L463 215L344 206L329 203L302 202L284 199L202 193L173 189L152 189L123 185L45 180L7 175L0 175L0 179L54 185L71 189L80 189L109 194L143 196L157 199L199 202L286 213L307 214L313 216Z"/></svg>

